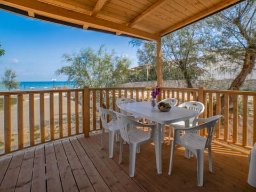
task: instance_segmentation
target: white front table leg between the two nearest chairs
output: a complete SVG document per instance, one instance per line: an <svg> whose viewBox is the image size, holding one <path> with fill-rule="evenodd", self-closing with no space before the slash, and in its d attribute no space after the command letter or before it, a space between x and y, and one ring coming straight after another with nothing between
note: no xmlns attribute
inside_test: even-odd
<svg viewBox="0 0 256 192"><path fill-rule="evenodd" d="M155 129L155 153L156 153L156 169L158 174L162 174L162 134L161 124L157 123Z"/></svg>

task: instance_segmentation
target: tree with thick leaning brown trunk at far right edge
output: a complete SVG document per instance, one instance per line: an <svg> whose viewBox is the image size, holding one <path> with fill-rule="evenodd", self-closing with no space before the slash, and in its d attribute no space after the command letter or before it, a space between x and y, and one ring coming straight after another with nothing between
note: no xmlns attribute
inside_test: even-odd
<svg viewBox="0 0 256 192"><path fill-rule="evenodd" d="M223 61L231 61L238 75L228 90L239 90L247 75L255 67L256 55L256 1L247 0L213 17L215 31L215 47ZM225 65L223 71L230 70Z"/></svg>

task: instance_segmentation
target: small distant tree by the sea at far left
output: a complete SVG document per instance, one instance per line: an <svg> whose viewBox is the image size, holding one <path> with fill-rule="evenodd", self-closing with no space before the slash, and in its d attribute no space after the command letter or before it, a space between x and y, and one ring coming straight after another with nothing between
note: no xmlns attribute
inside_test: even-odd
<svg viewBox="0 0 256 192"><path fill-rule="evenodd" d="M4 76L2 77L2 82L7 90L18 89L19 82L15 81L15 77L17 77L16 73L12 69L6 69L4 72Z"/></svg>

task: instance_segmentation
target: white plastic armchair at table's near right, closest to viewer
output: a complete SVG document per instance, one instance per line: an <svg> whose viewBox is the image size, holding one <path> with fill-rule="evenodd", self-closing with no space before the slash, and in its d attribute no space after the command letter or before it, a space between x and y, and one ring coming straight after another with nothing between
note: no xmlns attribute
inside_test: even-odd
<svg viewBox="0 0 256 192"><path fill-rule="evenodd" d="M190 128L177 128L174 130L174 138L171 147L170 165L169 165L169 175L172 173L173 164L173 154L175 149L175 144L185 147L195 154L197 160L197 186L203 186L204 178L204 150L208 148L209 154L209 171L212 172L212 150L211 144L213 139L213 134L215 133L215 127L219 121L221 115L215 115L209 118L195 119L193 125L197 122L206 122L197 126ZM201 129L207 129L207 137L202 137L196 133L196 131ZM186 134L180 136L180 131L186 131Z"/></svg>

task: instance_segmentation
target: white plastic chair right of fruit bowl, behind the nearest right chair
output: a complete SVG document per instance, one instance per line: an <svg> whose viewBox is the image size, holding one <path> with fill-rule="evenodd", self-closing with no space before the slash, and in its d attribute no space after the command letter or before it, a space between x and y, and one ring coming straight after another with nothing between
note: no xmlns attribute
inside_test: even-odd
<svg viewBox="0 0 256 192"><path fill-rule="evenodd" d="M198 102L198 101L183 102L178 107L183 107L183 108L187 108L189 110L197 111L198 112L198 116L201 115L204 112L204 108L205 108L204 104L201 103L201 102ZM189 119L189 126L192 126L194 119L197 119L198 116ZM178 127L181 127L181 128L185 127L185 122L184 121L180 121L180 122L177 122L177 123L170 124L167 145L170 145L171 131L174 133L174 129L176 129Z"/></svg>

